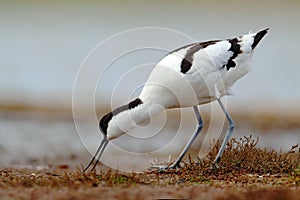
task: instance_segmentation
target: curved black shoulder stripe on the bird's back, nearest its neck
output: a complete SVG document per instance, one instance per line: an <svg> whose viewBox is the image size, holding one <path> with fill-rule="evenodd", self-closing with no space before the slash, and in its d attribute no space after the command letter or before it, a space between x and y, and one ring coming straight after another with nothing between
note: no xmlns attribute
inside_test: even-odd
<svg viewBox="0 0 300 200"><path fill-rule="evenodd" d="M216 44L216 42L218 42L218 41L219 40L212 40L212 41L197 43L193 47L191 47L186 52L184 58L181 61L181 66L180 66L181 72L185 74L185 73L187 73L191 69L192 63L193 63L193 59L194 59L194 54L196 52L198 52L200 49L208 47L209 45Z"/></svg>

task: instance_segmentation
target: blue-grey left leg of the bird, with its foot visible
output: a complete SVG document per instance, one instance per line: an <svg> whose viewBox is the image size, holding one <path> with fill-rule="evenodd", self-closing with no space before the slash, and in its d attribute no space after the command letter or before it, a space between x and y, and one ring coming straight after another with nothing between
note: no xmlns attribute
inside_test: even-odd
<svg viewBox="0 0 300 200"><path fill-rule="evenodd" d="M183 157L185 156L185 154L189 150L189 148L192 146L193 142L195 141L195 139L197 138L197 136L199 135L199 133L201 132L201 129L203 127L203 121L202 121L201 115L199 113L198 107L194 106L193 108L194 108L195 115L198 120L198 127L197 127L197 130L195 131L195 133L192 135L191 139L188 141L188 143L186 144L186 146L180 153L180 155L178 156L177 160L170 166L153 166L150 169L156 169L156 170L162 171L162 170L166 170L168 168L175 169L175 168L180 167L181 160L183 159Z"/></svg>

